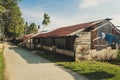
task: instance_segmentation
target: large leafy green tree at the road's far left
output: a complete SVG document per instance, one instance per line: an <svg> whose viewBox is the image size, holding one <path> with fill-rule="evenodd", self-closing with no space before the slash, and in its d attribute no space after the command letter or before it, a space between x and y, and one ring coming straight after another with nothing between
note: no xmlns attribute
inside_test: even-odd
<svg viewBox="0 0 120 80"><path fill-rule="evenodd" d="M2 0L2 6L7 10L2 14L2 26L5 36L16 38L23 34L24 21L21 17L20 8L18 7L19 0Z"/></svg>

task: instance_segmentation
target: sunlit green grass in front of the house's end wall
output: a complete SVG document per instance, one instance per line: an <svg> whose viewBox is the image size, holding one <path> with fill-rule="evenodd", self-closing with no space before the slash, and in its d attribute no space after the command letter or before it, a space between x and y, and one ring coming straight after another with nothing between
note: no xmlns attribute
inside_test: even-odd
<svg viewBox="0 0 120 80"><path fill-rule="evenodd" d="M91 80L120 80L120 66L107 62L80 61L59 62L58 64Z"/></svg>

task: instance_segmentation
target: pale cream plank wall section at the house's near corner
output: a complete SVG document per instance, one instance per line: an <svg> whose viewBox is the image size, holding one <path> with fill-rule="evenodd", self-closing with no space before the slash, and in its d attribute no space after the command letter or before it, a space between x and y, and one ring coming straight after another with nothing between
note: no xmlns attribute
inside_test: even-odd
<svg viewBox="0 0 120 80"><path fill-rule="evenodd" d="M90 53L91 33L82 32L75 40L76 61L79 61L81 55L88 55Z"/></svg>

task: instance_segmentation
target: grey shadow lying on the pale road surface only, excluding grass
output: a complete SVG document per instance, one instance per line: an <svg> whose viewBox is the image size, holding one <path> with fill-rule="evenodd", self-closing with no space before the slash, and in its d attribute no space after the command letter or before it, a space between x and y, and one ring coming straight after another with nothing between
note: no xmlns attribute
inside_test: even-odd
<svg viewBox="0 0 120 80"><path fill-rule="evenodd" d="M50 61L34 54L35 51L29 51L26 49L22 49L18 46L11 45L9 49L15 51L18 55L20 55L26 62L30 64L38 64L38 63L50 63Z"/></svg>

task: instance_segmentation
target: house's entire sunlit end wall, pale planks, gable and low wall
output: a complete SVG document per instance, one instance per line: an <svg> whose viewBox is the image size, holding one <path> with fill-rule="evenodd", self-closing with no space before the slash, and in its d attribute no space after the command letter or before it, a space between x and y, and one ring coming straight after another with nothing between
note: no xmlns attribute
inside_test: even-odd
<svg viewBox="0 0 120 80"><path fill-rule="evenodd" d="M103 25L103 26L102 26ZM76 61L79 60L109 60L117 57L118 50L108 47L108 43L100 37L101 32L113 34L116 32L107 22L94 25L90 32L82 32L75 40ZM99 28L100 27L100 28ZM98 38L98 39L96 39ZM96 39L96 40L94 40Z"/></svg>

